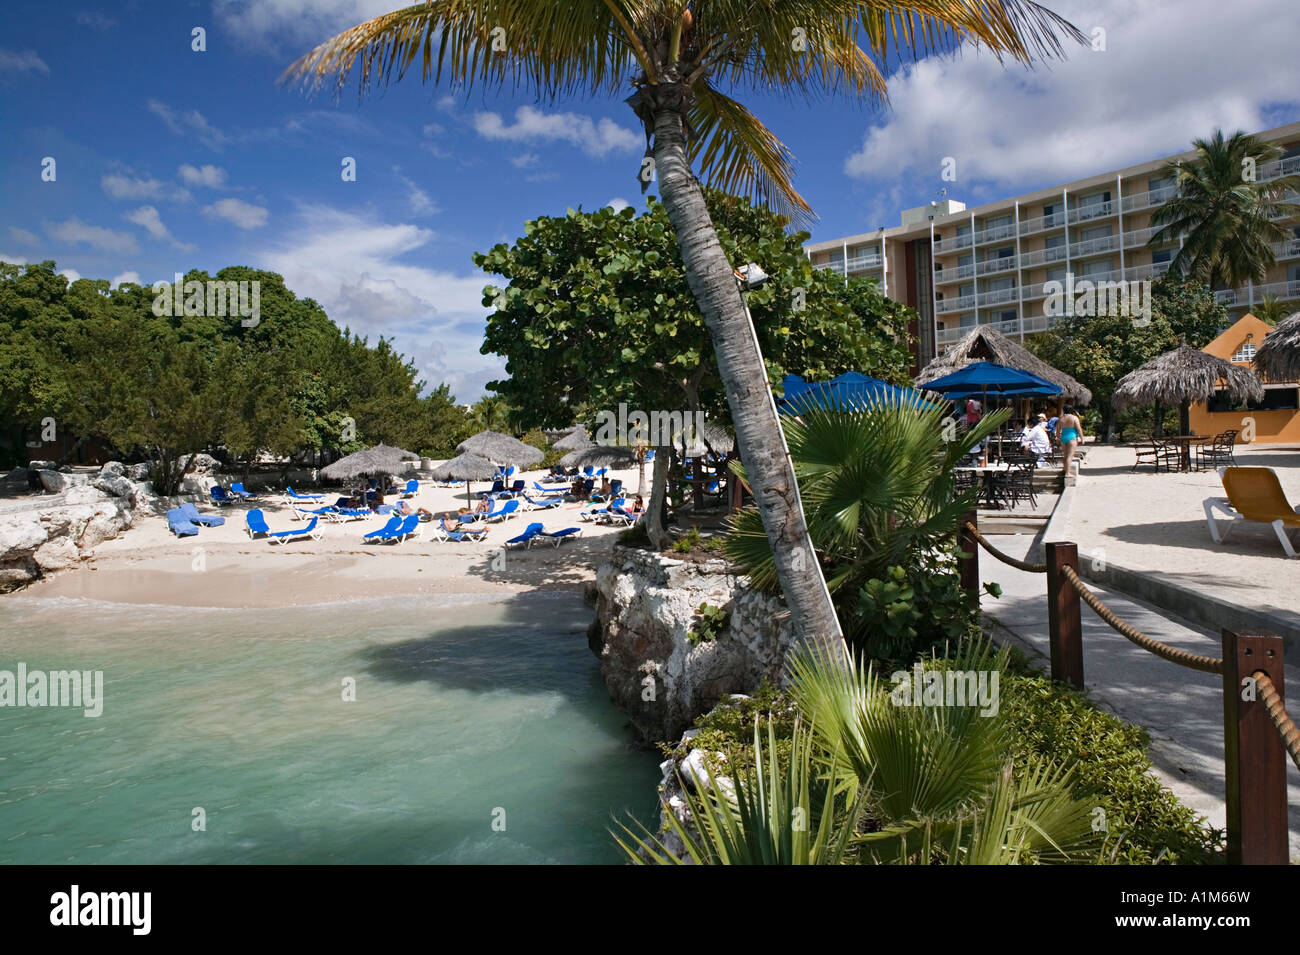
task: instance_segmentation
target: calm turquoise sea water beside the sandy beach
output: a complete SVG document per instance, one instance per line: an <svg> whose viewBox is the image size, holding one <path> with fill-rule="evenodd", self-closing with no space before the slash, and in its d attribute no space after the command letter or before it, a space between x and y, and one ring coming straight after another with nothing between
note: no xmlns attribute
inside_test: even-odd
<svg viewBox="0 0 1300 955"><path fill-rule="evenodd" d="M656 760L589 620L572 594L5 598L0 669L101 669L104 712L0 707L0 863L621 861L611 813L655 817Z"/></svg>

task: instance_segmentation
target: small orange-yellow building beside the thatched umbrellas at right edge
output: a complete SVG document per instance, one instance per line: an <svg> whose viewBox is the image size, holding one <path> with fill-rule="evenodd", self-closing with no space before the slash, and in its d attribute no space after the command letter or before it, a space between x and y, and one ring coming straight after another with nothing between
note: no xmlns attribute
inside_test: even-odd
<svg viewBox="0 0 1300 955"><path fill-rule="evenodd" d="M1242 365L1254 364L1254 352L1264 337L1273 330L1268 322L1249 312L1236 324L1210 342L1202 351ZM1300 442L1300 386L1296 382L1265 379L1264 400L1234 404L1222 396L1209 404L1191 407L1190 424L1193 434L1221 434L1236 430L1238 443Z"/></svg>

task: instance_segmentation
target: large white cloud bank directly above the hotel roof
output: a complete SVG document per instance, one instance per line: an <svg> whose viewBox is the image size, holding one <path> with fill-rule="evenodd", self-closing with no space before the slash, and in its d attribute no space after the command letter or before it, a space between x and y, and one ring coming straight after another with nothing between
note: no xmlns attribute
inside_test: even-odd
<svg viewBox="0 0 1300 955"><path fill-rule="evenodd" d="M1070 43L1067 60L1026 71L966 52L931 57L889 84L892 109L844 165L874 186L957 160L948 185L967 204L1050 186L1191 148L1193 136L1254 131L1297 118L1294 0L1060 0L1052 9L1105 52ZM1214 23L1214 29L1206 25ZM1261 69L1268 64L1268 69ZM933 197L930 190L910 200ZM876 208L879 207L879 208ZM866 217L897 209L878 197Z"/></svg>

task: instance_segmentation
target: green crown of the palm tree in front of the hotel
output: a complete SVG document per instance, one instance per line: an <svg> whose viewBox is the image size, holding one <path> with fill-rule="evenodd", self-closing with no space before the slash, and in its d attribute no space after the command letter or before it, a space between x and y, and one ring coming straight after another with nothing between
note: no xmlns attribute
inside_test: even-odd
<svg viewBox="0 0 1300 955"><path fill-rule="evenodd" d="M1152 225L1162 227L1147 244L1154 248L1183 236L1170 272L1212 288L1262 282L1277 262L1273 244L1291 236L1277 220L1300 216L1300 205L1287 199L1288 192L1300 191L1300 175L1261 182L1258 166L1283 153L1245 133L1225 139L1223 130L1216 130L1192 144L1196 159L1161 169L1178 194L1152 213Z"/></svg>

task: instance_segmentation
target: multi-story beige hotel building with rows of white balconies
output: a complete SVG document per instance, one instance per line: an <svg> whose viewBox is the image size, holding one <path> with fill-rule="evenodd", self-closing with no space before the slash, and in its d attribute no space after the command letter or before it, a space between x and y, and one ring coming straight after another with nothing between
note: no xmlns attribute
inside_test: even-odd
<svg viewBox="0 0 1300 955"><path fill-rule="evenodd" d="M1300 122L1260 133L1284 156L1260 164L1256 178L1300 173ZM1057 317L1045 308L1046 283L1154 279L1169 269L1178 243L1147 242L1152 213L1173 194L1161 175L1170 161L1195 151L1098 173L1052 188L967 209L953 199L902 213L901 225L806 246L814 265L875 277L889 298L916 309L918 364L989 325L1023 340ZM1217 291L1236 318L1266 295L1300 301L1300 220L1284 222L1291 238L1275 247L1266 281ZM1300 304L1297 304L1300 307Z"/></svg>

